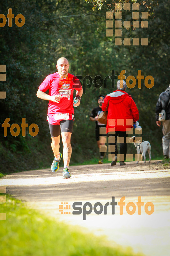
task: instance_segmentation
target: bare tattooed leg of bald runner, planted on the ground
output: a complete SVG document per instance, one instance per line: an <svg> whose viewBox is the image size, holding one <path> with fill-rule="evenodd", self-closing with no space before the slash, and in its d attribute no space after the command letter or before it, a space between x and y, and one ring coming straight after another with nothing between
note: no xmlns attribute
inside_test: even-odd
<svg viewBox="0 0 170 256"><path fill-rule="evenodd" d="M69 167L70 164L70 158L72 153L71 148L71 132L62 132L62 141L63 141L63 161L64 161L64 167Z"/></svg>

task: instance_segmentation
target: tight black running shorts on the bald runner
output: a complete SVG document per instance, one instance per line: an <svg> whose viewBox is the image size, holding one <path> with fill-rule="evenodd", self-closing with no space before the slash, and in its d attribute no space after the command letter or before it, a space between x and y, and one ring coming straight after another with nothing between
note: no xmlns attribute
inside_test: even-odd
<svg viewBox="0 0 170 256"><path fill-rule="evenodd" d="M60 121L60 125L58 124L49 124L49 130L51 137L58 137L61 132L73 132L73 123L74 120L62 120Z"/></svg>

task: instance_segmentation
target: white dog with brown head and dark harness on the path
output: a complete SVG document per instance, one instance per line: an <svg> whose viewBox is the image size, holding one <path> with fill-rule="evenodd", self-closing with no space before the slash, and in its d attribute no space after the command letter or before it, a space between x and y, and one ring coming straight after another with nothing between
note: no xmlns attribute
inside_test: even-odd
<svg viewBox="0 0 170 256"><path fill-rule="evenodd" d="M149 163L151 162L151 144L149 143L149 141L143 141L141 143L135 143L135 136L129 138L129 142L133 142L133 144L135 145L136 149L137 149L137 164L139 163L139 155L142 153L141 156L141 161L142 158L144 156L144 163L146 163L146 151L148 151L149 154Z"/></svg>

